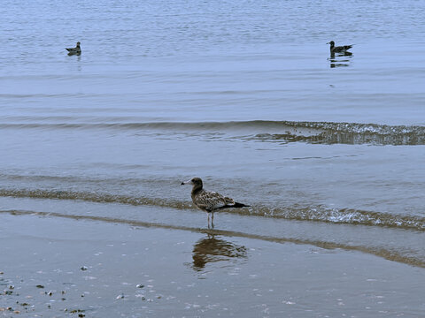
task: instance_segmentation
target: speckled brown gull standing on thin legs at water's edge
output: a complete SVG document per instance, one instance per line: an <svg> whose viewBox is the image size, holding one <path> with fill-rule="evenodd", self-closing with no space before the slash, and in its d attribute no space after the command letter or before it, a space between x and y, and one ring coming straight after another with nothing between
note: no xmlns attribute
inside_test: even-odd
<svg viewBox="0 0 425 318"><path fill-rule="evenodd" d="M235 200L224 197L220 193L205 191L202 188L201 178L192 178L188 181L182 182L182 185L192 185L192 201L197 208L202 209L208 213L208 229L210 228L210 213L211 225L214 228L214 211L221 208L243 208L250 207L249 205L235 202Z"/></svg>

